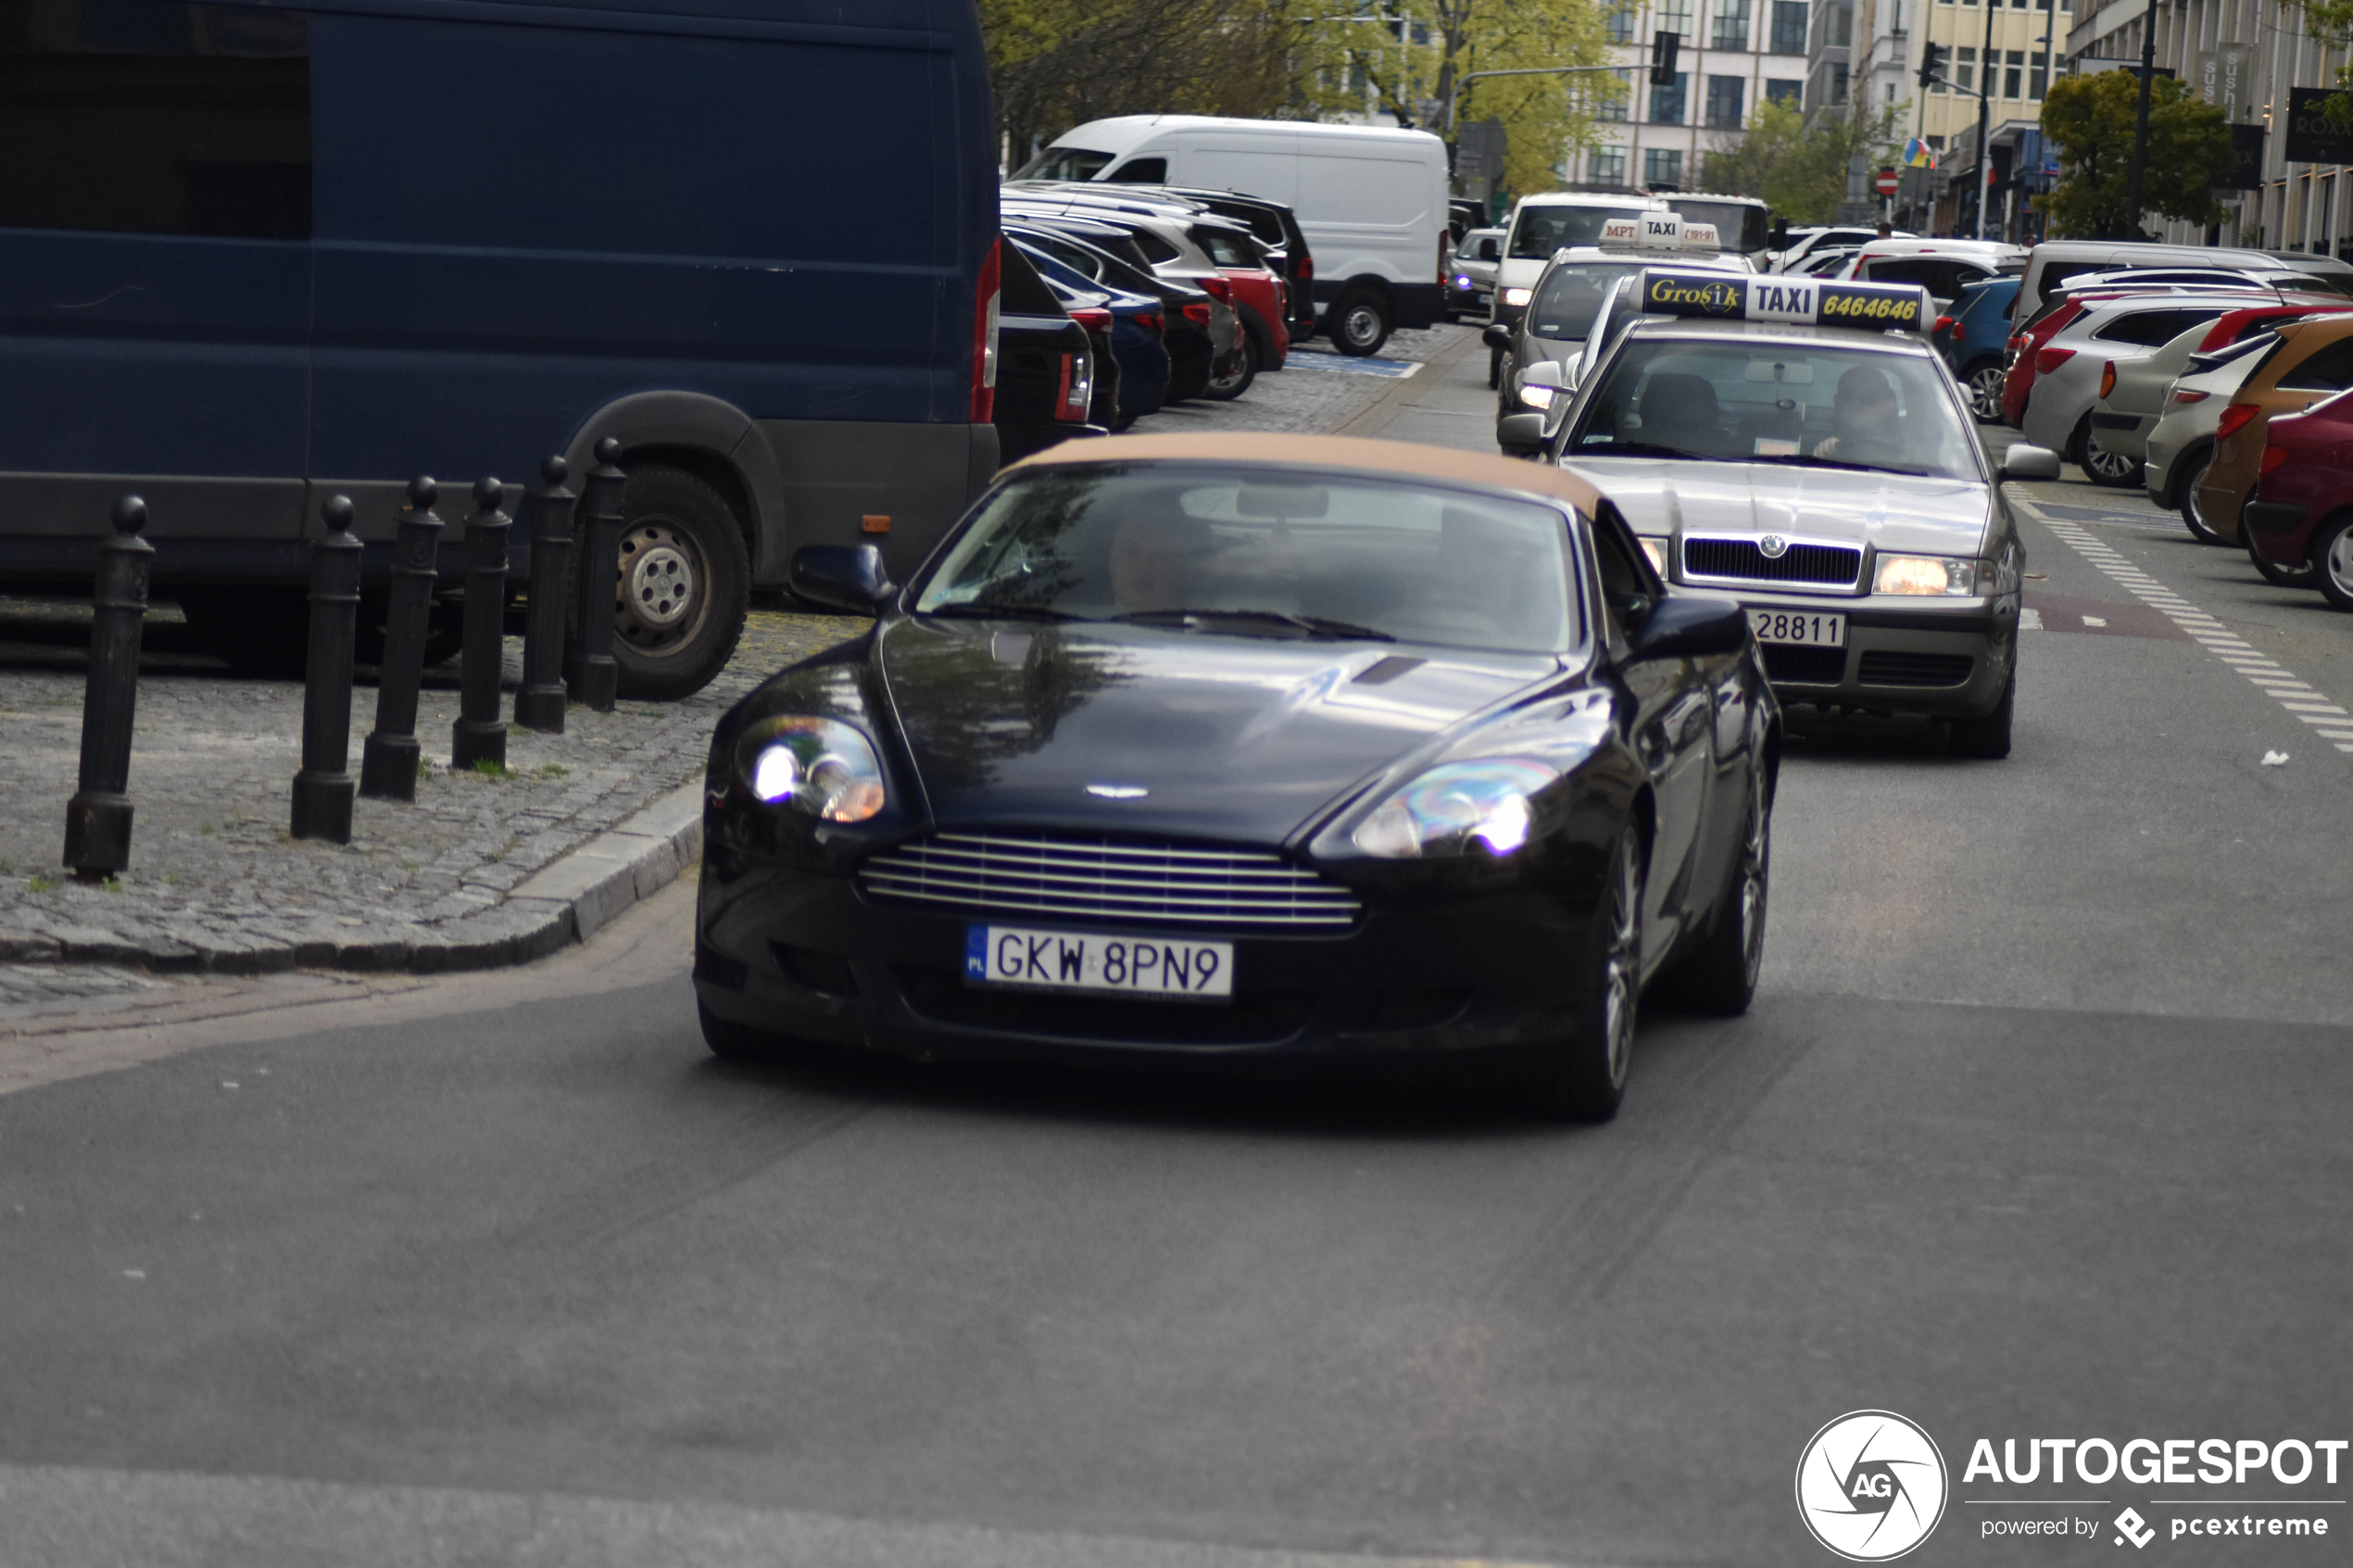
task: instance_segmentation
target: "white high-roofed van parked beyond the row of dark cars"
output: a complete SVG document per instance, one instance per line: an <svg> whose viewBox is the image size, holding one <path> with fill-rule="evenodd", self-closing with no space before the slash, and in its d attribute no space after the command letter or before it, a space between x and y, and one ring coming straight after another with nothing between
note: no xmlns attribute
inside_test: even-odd
<svg viewBox="0 0 2353 1568"><path fill-rule="evenodd" d="M1344 355L1445 320L1447 143L1428 132L1120 115L1064 132L1014 179L1205 186L1287 205L1315 256L1315 324Z"/></svg>

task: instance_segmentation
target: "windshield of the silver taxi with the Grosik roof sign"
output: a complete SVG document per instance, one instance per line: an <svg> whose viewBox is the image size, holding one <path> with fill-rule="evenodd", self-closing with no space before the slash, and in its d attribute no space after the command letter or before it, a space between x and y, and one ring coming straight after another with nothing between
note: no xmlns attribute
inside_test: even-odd
<svg viewBox="0 0 2353 1568"><path fill-rule="evenodd" d="M1584 404L1567 454L1984 477L1927 355L1828 343L1633 341Z"/></svg>

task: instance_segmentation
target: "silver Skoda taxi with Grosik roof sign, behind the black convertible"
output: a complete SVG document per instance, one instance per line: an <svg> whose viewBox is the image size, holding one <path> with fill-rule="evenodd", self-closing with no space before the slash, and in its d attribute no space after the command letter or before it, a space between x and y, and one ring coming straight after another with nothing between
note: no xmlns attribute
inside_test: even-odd
<svg viewBox="0 0 2353 1568"><path fill-rule="evenodd" d="M1784 703L1948 722L2007 757L2024 545L1922 336L1918 284L1649 268L1642 315L1579 386L1553 461L1678 585L1739 595Z"/></svg>

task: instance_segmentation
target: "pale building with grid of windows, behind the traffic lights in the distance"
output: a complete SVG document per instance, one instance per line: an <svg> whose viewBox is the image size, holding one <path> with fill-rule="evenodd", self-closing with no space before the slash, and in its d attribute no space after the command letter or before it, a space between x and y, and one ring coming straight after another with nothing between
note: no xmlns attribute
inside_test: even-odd
<svg viewBox="0 0 2353 1568"><path fill-rule="evenodd" d="M1654 0L1609 19L1624 92L1595 103L1595 143L1572 188L1699 190L1701 162L1734 143L1758 103L1805 94L1807 0ZM1673 87L1649 85L1649 40L1680 35Z"/></svg>

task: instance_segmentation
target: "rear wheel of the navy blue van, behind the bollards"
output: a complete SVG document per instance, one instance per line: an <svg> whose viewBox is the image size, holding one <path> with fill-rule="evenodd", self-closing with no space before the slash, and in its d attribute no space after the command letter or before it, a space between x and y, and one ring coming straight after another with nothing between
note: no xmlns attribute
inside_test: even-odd
<svg viewBox="0 0 2353 1568"><path fill-rule="evenodd" d="M751 552L727 501L682 468L633 470L612 604L619 693L659 703L708 686L734 656L748 607Z"/></svg>

